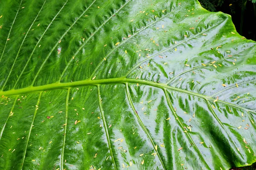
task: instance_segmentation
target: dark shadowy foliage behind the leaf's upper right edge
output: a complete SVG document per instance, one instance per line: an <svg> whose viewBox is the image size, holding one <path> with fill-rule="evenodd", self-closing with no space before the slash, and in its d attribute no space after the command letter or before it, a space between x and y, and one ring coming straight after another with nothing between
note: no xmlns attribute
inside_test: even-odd
<svg viewBox="0 0 256 170"><path fill-rule="evenodd" d="M236 31L256 41L256 0L199 0L209 11L221 11L232 16Z"/></svg>

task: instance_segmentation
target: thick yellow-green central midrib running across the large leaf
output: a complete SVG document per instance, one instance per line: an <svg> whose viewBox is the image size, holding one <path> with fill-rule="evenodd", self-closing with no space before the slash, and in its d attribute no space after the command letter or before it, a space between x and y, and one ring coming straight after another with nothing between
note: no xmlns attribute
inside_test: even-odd
<svg viewBox="0 0 256 170"><path fill-rule="evenodd" d="M197 96L202 99L207 99L210 101L215 100L214 98L212 98L210 96L206 96L204 94L198 94L198 93L195 93L192 91L175 88L175 87L163 84L163 83L151 82L151 81L142 80L142 79L128 79L125 77L111 78L111 79L96 79L96 80L85 79L85 80L80 80L80 81L76 81L76 82L64 82L64 83L55 82L55 83L48 84L48 85L28 86L26 88L12 89L12 90L8 90L8 91L0 91L0 96L15 96L15 95L28 94L28 93L41 92L41 91L49 91L49 90L55 90L55 89L68 89L68 88L79 87L79 86L87 86L87 85L98 86L98 85L115 84L115 83L117 83L117 84L138 83L138 84L143 84L143 85L149 85L149 86L156 87L156 88L177 91L180 93ZM239 108L241 110L249 111L249 112L256 114L256 111L253 111L253 110L250 110L250 109L238 106L238 105L234 105L229 102L224 102L221 100L218 100L217 102L222 103L224 105L228 105L230 107Z"/></svg>

